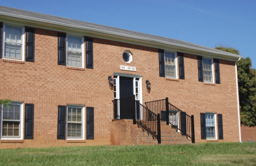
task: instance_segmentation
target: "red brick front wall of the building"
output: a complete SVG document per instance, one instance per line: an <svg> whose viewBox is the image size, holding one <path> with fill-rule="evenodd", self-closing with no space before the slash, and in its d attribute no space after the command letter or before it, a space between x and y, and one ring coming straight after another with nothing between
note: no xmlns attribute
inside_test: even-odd
<svg viewBox="0 0 256 166"><path fill-rule="evenodd" d="M206 141L201 140L200 129L200 113L205 112L223 114L223 141L239 141L234 61L220 60L221 84L207 85L198 81L196 55L184 54L185 80L171 80L159 77L157 48L93 38L94 69L76 70L57 64L57 42L57 31L36 28L34 63L0 60L1 99L35 104L34 139L0 143L0 148L110 144L113 90L107 78L113 72L142 75L143 102L169 97L170 103L193 114L196 142ZM133 54L130 64L123 60L125 50ZM135 66L137 71L120 70L120 65ZM94 140L57 140L58 105L67 104L94 107Z"/></svg>

